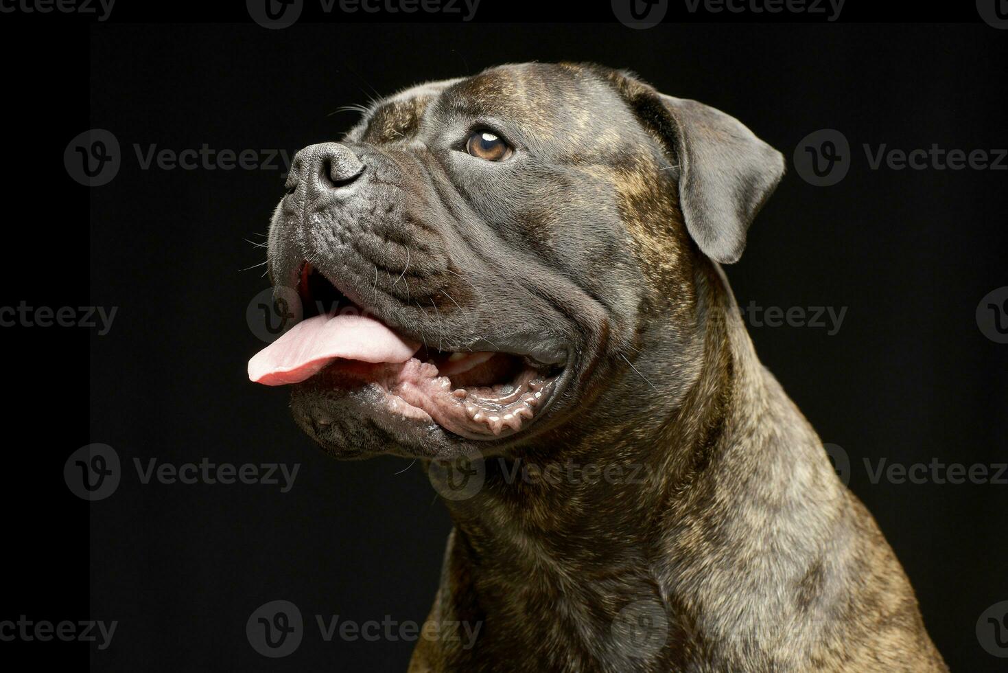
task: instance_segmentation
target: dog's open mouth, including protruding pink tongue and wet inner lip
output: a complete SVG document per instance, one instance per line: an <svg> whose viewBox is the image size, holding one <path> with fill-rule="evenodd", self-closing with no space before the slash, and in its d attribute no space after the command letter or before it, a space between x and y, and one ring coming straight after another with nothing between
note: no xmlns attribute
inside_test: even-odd
<svg viewBox="0 0 1008 673"><path fill-rule="evenodd" d="M385 413L469 439L523 430L558 387L560 361L422 344L354 304L311 264L302 267L298 294L304 318L249 361L253 381L372 386Z"/></svg>

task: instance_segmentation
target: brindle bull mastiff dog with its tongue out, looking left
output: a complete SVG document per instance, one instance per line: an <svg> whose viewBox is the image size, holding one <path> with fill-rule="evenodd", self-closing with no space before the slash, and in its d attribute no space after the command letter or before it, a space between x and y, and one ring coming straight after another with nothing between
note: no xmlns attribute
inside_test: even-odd
<svg viewBox="0 0 1008 673"><path fill-rule="evenodd" d="M444 496L411 671L948 670L720 266L783 173L574 64L420 85L296 154L268 256L300 322L249 374Z"/></svg>

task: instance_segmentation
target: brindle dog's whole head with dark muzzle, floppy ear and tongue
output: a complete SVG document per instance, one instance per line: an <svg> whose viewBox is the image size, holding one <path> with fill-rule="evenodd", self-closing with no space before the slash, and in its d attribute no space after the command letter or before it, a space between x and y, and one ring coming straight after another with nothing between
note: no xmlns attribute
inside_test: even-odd
<svg viewBox="0 0 1008 673"><path fill-rule="evenodd" d="M734 118L596 66L409 89L294 157L268 256L303 319L250 376L340 457L660 412L703 358L698 269L739 258L782 174Z"/></svg>

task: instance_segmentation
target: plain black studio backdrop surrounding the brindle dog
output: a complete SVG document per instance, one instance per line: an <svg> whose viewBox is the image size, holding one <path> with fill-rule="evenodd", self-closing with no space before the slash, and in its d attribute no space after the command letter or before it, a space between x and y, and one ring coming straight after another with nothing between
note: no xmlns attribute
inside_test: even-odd
<svg viewBox="0 0 1008 673"><path fill-rule="evenodd" d="M484 1L489 18L505 18ZM136 9L121 11L132 18ZM6 256L19 253L5 273L4 305L88 304L90 233L90 303L119 307L107 336L5 334L10 375L26 401L8 404L11 425L28 427L36 448L8 454L10 535L20 542L8 548L3 616L119 622L105 651L24 649L90 652L99 671L405 669L411 643L327 643L313 615L422 621L450 528L443 506L408 461L331 460L296 430L284 390L245 377L263 345L245 311L266 279L261 266L240 270L265 258L243 239L266 231L282 165L142 170L134 143L292 154L336 139L355 118L337 108L371 96L500 63L584 60L630 68L665 93L725 110L789 162L817 129L850 140L848 177L816 188L791 171L727 272L742 305L847 307L833 336L752 327L757 351L824 441L850 456L850 485L903 562L953 670L1002 667L975 628L984 609L1008 599L1008 485L873 483L863 460L1008 460L1008 345L987 339L975 320L981 298L1008 285L1008 172L872 171L862 144L1008 146L1008 31L975 15L917 25L690 17L647 30L527 22L549 18L541 13L515 14L526 22L513 24L307 17L283 30L240 12L242 23L209 25L13 18L25 44L45 47L30 59L13 42L3 47L16 64L7 86L21 92L7 103L22 122L8 126L8 190L34 208L30 218L12 216ZM60 157L91 127L112 131L123 159L109 185L88 190ZM39 421L16 423L37 409ZM89 442L112 445L125 466L115 494L91 504L61 481L64 460ZM134 458L300 470L286 493L143 484ZM245 637L249 614L274 599L297 604L307 623L300 648L280 660L261 657Z"/></svg>

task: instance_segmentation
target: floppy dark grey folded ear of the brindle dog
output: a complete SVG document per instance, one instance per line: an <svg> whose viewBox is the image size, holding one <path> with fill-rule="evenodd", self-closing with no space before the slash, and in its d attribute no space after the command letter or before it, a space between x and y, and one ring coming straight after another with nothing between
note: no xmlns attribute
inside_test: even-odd
<svg viewBox="0 0 1008 673"><path fill-rule="evenodd" d="M659 94L626 73L616 84L665 145L689 235L715 261L738 261L749 225L784 175L784 157L720 110Z"/></svg>

